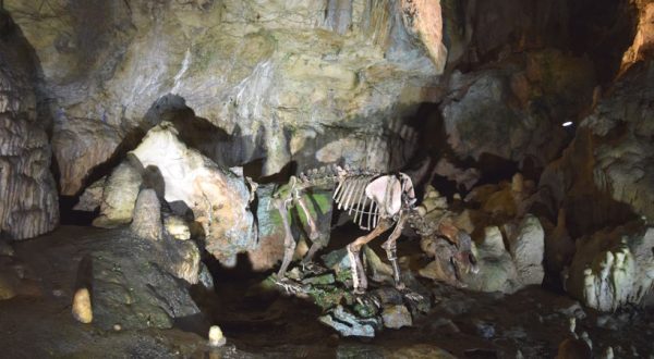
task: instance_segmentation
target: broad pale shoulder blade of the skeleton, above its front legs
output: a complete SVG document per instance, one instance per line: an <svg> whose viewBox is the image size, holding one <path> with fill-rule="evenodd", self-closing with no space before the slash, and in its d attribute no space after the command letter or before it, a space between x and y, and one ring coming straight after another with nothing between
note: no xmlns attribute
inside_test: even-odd
<svg viewBox="0 0 654 359"><path fill-rule="evenodd" d="M375 178L365 187L365 195L384 208L388 215L399 213L402 208L413 208L416 201L413 182L404 173Z"/></svg>

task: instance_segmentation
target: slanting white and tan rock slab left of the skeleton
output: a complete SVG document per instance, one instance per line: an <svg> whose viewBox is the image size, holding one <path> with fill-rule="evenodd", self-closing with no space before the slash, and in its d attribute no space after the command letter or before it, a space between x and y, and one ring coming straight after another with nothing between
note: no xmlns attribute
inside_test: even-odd
<svg viewBox="0 0 654 359"><path fill-rule="evenodd" d="M206 250L223 264L233 265L237 253L254 249L251 194L241 174L186 147L168 122L152 128L130 156L146 171L157 173L168 203L181 202L192 210L204 230Z"/></svg>

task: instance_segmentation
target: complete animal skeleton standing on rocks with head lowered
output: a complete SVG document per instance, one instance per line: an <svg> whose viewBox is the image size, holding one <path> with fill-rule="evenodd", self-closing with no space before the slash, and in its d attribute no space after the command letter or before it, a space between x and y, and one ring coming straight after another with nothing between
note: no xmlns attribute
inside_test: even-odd
<svg viewBox="0 0 654 359"><path fill-rule="evenodd" d="M371 231L347 246L348 256L352 263L352 282L354 293L363 294L367 289L367 278L364 267L361 261L362 246L377 238L391 227L391 234L382 245L386 250L388 260L392 268L393 282L396 287L403 289L404 285L400 278L400 268L397 257L397 239L402 230L410 224L419 233L427 231L437 231L453 245L470 244L465 232L460 231L449 221L441 221L436 224L427 224L422 213L415 208L415 190L411 177L404 173L397 172L384 174L367 170L351 170L340 166L322 168L320 170L308 171L307 174L301 174L299 177L291 176L289 185L284 190L278 190L272 196L271 203L275 205L281 215L281 222L284 228L284 256L277 275L283 280L286 272L295 251L295 240L290 228L289 208L295 206L304 213L308 239L312 246L302 260L303 265L312 262L316 251L327 244L317 240L319 233L315 220L303 198L303 194L312 188L331 189L334 194L334 206L338 210L347 211L352 221L362 230ZM473 258L468 248L459 248L465 252L460 258Z"/></svg>

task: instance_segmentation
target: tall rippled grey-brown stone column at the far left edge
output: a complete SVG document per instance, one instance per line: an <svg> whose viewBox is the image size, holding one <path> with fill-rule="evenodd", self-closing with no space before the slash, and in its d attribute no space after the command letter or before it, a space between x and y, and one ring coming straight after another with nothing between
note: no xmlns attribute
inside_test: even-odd
<svg viewBox="0 0 654 359"><path fill-rule="evenodd" d="M10 18L0 14L0 232L25 239L59 222L46 117L37 114L38 70Z"/></svg>

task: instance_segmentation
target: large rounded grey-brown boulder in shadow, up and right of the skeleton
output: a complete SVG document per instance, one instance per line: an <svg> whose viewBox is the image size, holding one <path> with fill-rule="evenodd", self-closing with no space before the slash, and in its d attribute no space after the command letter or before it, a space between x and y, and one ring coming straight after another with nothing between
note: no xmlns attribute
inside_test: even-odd
<svg viewBox="0 0 654 359"><path fill-rule="evenodd" d="M565 121L590 104L588 60L556 50L528 52L495 69L455 73L441 104L448 144L460 159L492 154L545 165L562 148Z"/></svg>

